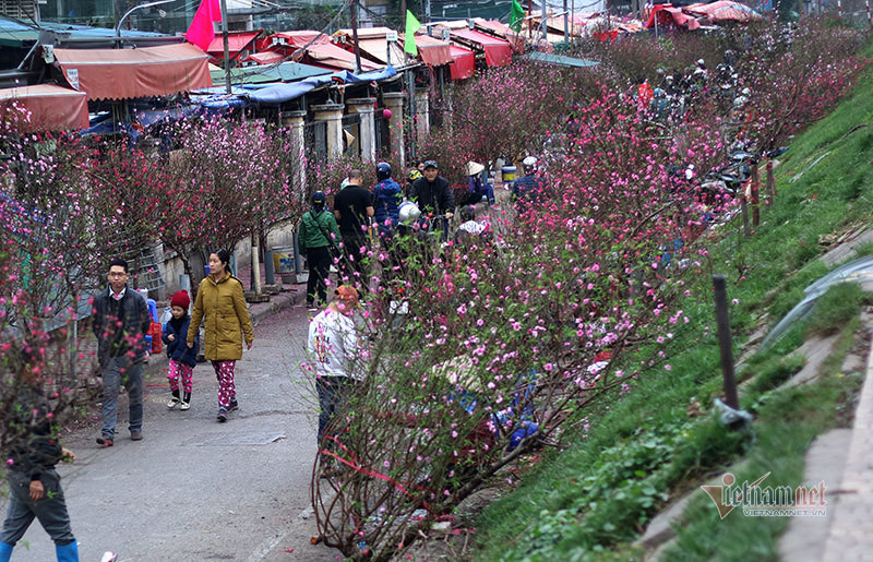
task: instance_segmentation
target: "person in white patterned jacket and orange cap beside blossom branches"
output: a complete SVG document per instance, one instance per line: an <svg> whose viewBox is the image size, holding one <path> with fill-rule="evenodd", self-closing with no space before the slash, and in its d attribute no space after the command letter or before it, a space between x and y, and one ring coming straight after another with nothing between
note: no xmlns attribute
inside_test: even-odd
<svg viewBox="0 0 873 562"><path fill-rule="evenodd" d="M325 437L333 437L325 435L331 418L358 382L356 362L360 348L351 320L357 306L358 291L343 285L336 289L327 308L309 324L307 350L312 359L319 393L319 446Z"/></svg>

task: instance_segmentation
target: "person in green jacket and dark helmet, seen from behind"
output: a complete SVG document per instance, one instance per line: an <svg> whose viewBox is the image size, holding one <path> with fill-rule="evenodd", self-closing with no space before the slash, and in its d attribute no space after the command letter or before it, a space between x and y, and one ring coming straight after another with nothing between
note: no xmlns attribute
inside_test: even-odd
<svg viewBox="0 0 873 562"><path fill-rule="evenodd" d="M339 240L336 218L333 213L324 210L326 201L323 191L312 194L312 211L303 215L298 237L300 252L306 253L309 263L307 308L313 311L316 294L319 304L327 302L327 276L331 274L332 254L336 249L336 241Z"/></svg>

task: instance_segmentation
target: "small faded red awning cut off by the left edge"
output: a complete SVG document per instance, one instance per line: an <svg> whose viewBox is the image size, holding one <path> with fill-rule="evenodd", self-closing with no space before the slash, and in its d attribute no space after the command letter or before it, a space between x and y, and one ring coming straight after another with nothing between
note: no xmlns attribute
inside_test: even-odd
<svg viewBox="0 0 873 562"><path fill-rule="evenodd" d="M88 101L84 92L52 84L0 89L0 108L9 113L16 105L29 111L29 119L20 122L19 131L67 131L88 127Z"/></svg>

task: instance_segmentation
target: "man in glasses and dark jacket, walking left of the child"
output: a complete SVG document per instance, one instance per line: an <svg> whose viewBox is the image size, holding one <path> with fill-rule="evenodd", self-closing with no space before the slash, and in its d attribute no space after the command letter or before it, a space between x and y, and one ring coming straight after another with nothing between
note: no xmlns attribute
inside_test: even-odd
<svg viewBox="0 0 873 562"><path fill-rule="evenodd" d="M118 420L118 391L121 385L130 399L130 439L143 439L143 361L145 335L152 326L148 304L137 291L128 290L128 262L116 258L109 263L109 289L94 298L94 335L103 376L103 429L97 444L115 443Z"/></svg>

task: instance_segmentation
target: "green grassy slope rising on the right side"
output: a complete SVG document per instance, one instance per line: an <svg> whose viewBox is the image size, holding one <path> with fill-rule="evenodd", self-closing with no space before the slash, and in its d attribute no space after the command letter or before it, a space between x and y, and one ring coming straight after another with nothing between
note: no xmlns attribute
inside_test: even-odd
<svg viewBox="0 0 873 562"><path fill-rule="evenodd" d="M873 48L868 49L865 55L872 57ZM764 222L756 236L739 247L737 237L733 236L722 244L723 255L714 256L713 270L728 274L730 296L738 298L741 303L731 312L737 339L744 339L744 335L754 327L755 316L765 309L768 309L770 319L784 315L802 298L803 288L826 272L824 265L814 260L820 254L820 236L871 222L871 76L873 72L868 69L849 99L791 144L791 150L784 156L782 167L777 171L779 194L776 204L772 211L764 213ZM856 129L863 123L866 124ZM851 132L853 129L856 130ZM810 169L826 153L827 156ZM798 181L789 181L801 172L802 177ZM741 273L744 273L742 280ZM696 316L695 323L707 323L706 318L711 315L707 307L709 304L705 302L689 303L693 318ZM697 332L702 333L704 332ZM629 490L627 479L609 478L607 473L614 473L629 462L615 462L612 453L617 444L620 449L630 451L643 439L650 440L653 432L663 433L659 428L668 428L665 431L669 434L669 428L692 422L686 410L695 397L699 397L706 407L707 397L718 394L720 375L715 338L711 333L703 336L686 333L685 337L694 348L673 361L673 370L669 375L662 372L644 375L634 391L612 405L611 409L603 406L600 411L591 412L588 420L591 429L586 437L579 435L566 451L547 456L527 475L517 490L486 510L477 524L480 531L477 559L538 559L554 553L579 554L583 550L595 548L597 543L618 545L621 548L623 541L631 539L642 528L654 514L654 509L647 506L645 498L650 494L637 495L629 502L625 493ZM797 366L786 367L781 357L801 339L802 331L794 330L767 357L752 362L755 373L760 378L769 379L789 374ZM799 457L798 452L802 455L814 434L833 423L835 402L845 392L846 385L857 384L857 381L844 382L844 385L840 385L840 381L833 380L823 383L825 386L816 391L822 397L816 404L817 408L824 409L815 409L814 415L808 417L809 423L802 425L798 431L792 431L792 428L799 427L803 416L780 416L779 412L785 412L784 408L789 404L810 403L812 396L802 393L777 396L779 393L773 393L762 400L754 395L745 398L746 405L757 405L762 426L767 425L767 420L773 422L768 426L769 431L762 431L758 435L760 440L752 446L750 456L756 458L765 455L764 458L769 462L768 469L773 469L775 474L781 471L780 480L792 481L799 478L802 473L802 456ZM763 383L756 386L757 392L764 392L767 387ZM794 408L793 411L798 410ZM777 421L779 426L776 425ZM639 428L647 430L641 434ZM792 439L779 440L775 437L786 433L791 433ZM670 441L669 435L661 439L669 442L666 449L670 455L670 466L649 463L643 469L646 473L645 481L667 487L660 488L661 491L670 491L685 475L696 477L729 462L731 453L738 451L738 444L731 441L730 435L719 433L708 419L694 423L692 429L683 429L682 437L678 442ZM777 443L782 443L782 446L774 449ZM764 445L769 451L762 449ZM605 459L603 451L608 447L613 450L606 455L609 458ZM642 461L644 464L649 459L633 451L624 457L617 454L621 458L630 456L631 461ZM786 458L786 466L778 461L777 457L780 456ZM753 468L761 468L761 462L753 464ZM585 501L581 505L579 499L586 495L598 498L598 505L590 506ZM660 498L655 497L655 500L657 507ZM609 505L612 509L608 509ZM697 505L701 511L698 515L706 513L705 507L703 503ZM709 511L715 513L715 510ZM613 517L617 525L598 524L598 516ZM583 525L579 525L581 522ZM590 525L586 526L588 523ZM756 525L761 522L746 523ZM778 534L779 522L775 522L775 525L774 534ZM683 542L691 558L703 555L715 543L717 539L708 545ZM748 542L740 541L740 551L743 550L742 545ZM531 550L530 546L535 548ZM537 550L537 546L541 550ZM767 554L773 554L774 546L770 541L755 548L763 548ZM750 553L754 554L745 552L746 555ZM624 554L629 552L624 551ZM764 553L757 553L761 554ZM674 551L673 555L684 558L681 549ZM737 552L737 555L742 555L742 552Z"/></svg>

